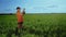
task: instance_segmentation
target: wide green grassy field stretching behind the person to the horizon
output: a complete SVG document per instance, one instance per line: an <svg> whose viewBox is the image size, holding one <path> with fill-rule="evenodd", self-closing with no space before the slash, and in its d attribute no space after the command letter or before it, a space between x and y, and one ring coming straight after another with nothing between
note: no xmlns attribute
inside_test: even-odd
<svg viewBox="0 0 66 37"><path fill-rule="evenodd" d="M15 15L0 15L0 37L7 37L16 26ZM25 14L23 26L22 37L66 37L66 14Z"/></svg>

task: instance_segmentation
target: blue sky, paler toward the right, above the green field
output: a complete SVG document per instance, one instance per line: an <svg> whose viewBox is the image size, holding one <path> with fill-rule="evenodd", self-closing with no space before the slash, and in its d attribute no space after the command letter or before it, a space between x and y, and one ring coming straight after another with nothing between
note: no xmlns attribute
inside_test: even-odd
<svg viewBox="0 0 66 37"><path fill-rule="evenodd" d="M16 7L26 13L66 13L66 0L0 0L0 13L15 13Z"/></svg>

